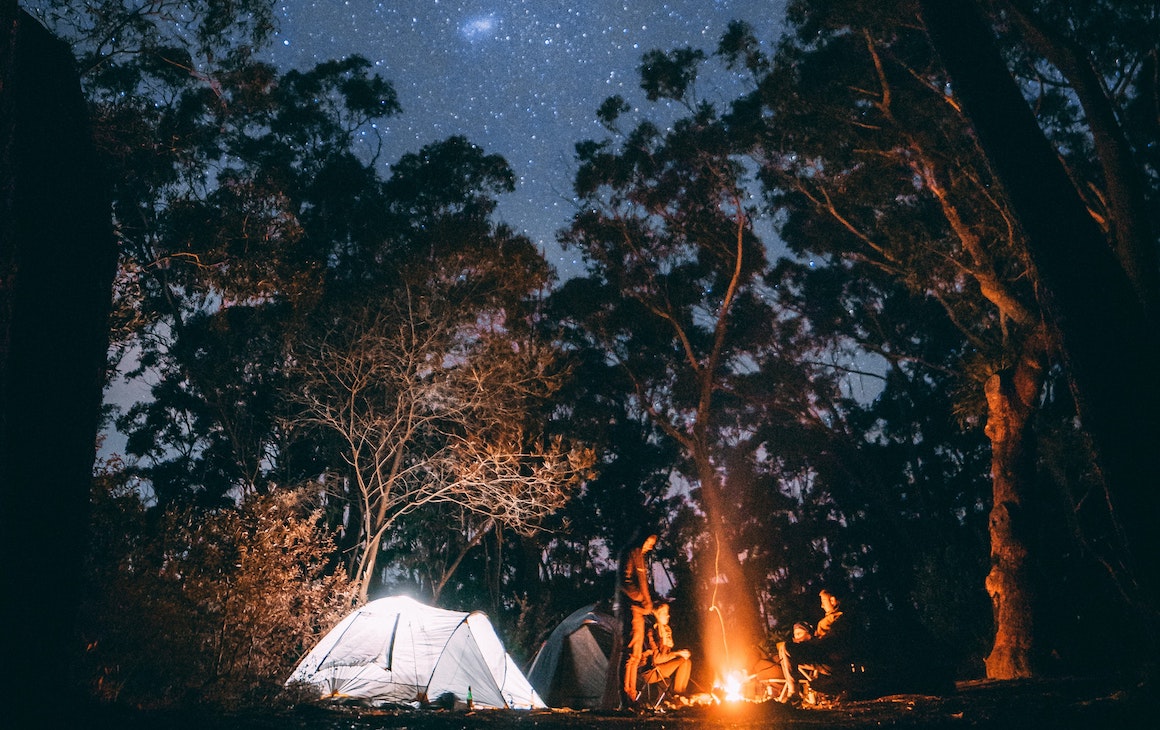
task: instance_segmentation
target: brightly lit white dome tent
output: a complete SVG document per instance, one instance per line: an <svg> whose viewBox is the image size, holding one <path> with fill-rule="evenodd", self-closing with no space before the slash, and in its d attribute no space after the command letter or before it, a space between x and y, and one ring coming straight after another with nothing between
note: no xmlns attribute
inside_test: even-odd
<svg viewBox="0 0 1160 730"><path fill-rule="evenodd" d="M397 595L371 601L339 622L298 663L287 685L321 699L425 704L471 689L477 708L544 707L483 613L425 606Z"/></svg>

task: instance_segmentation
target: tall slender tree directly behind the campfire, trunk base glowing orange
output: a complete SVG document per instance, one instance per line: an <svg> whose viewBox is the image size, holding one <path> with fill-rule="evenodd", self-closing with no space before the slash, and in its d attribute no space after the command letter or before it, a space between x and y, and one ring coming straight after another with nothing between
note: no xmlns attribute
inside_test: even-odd
<svg viewBox="0 0 1160 730"><path fill-rule="evenodd" d="M699 51L650 52L641 86L683 116L667 127L618 124L619 97L599 111L614 135L578 145L580 210L561 233L586 261L583 276L553 297L565 342L600 373L600 392L647 424L645 443L675 447L670 476L703 512L704 526L681 545L703 606L708 658L740 664L764 637L757 595L764 574L748 574L755 550L752 479L742 464L763 448L747 400L770 400L767 361L793 361L789 334L761 274L769 241L755 232L746 166L716 109L695 93ZM659 106L658 106L659 108ZM803 366L805 367L805 366ZM819 377L819 383L826 378ZM819 389L822 389L819 385ZM800 411L798 428L825 419L825 399ZM666 447L669 448L669 447Z"/></svg>

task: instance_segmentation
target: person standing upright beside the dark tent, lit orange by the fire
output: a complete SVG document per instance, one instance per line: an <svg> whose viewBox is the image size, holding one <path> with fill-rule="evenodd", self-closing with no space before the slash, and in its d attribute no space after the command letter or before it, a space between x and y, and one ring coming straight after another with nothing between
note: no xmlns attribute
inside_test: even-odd
<svg viewBox="0 0 1160 730"><path fill-rule="evenodd" d="M622 707L635 704L637 700L637 672L645 648L645 619L653 612L645 556L655 544L655 534L650 533L644 537L636 535L621 551L617 564L616 613L624 638L624 662L621 665Z"/></svg>

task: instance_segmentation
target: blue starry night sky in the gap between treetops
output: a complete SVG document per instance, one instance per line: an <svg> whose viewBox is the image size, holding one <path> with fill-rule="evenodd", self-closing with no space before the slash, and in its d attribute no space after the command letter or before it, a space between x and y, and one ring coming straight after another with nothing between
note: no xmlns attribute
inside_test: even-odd
<svg viewBox="0 0 1160 730"><path fill-rule="evenodd" d="M463 135L508 160L516 191L499 218L537 241L561 276L579 273L556 245L572 216L573 150L602 139L596 108L614 94L644 107L637 68L653 49L711 53L731 20L769 46L785 0L287 0L273 60L283 67L360 55L391 81L403 114L379 125L384 160ZM698 79L698 93L727 100L744 87L730 73ZM677 110L673 110L675 114Z"/></svg>

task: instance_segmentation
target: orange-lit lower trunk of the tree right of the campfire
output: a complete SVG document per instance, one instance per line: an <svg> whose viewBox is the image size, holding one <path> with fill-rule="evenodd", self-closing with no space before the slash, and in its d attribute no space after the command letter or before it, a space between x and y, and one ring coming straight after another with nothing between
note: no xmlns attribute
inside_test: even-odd
<svg viewBox="0 0 1160 730"><path fill-rule="evenodd" d="M1035 499L1035 414L1044 382L1043 338L1024 346L1013 368L987 380L987 426L991 439L991 572L987 594L995 620L995 642L986 659L991 679L1036 674L1035 580L1031 564Z"/></svg>

